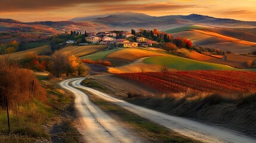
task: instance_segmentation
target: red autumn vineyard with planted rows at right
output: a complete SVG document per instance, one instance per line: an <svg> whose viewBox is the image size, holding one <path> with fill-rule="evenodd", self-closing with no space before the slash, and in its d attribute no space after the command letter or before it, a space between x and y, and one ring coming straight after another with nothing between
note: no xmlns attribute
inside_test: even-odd
<svg viewBox="0 0 256 143"><path fill-rule="evenodd" d="M163 93L193 91L242 94L256 91L256 73L249 71L172 71L115 75Z"/></svg>

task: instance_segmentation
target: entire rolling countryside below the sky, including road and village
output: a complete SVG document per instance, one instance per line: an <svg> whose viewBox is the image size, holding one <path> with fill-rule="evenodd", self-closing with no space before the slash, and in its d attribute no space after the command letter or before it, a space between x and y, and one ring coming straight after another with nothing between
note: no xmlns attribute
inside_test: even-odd
<svg viewBox="0 0 256 143"><path fill-rule="evenodd" d="M0 18L0 142L255 142L255 27L199 14Z"/></svg>

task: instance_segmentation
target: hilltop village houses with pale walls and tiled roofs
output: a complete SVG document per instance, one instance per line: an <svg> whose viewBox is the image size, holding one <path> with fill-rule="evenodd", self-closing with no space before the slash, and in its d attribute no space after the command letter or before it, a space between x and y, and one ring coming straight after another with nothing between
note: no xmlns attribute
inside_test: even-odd
<svg viewBox="0 0 256 143"><path fill-rule="evenodd" d="M70 32L65 32L70 34ZM115 45L118 48L137 48L137 47L152 47L158 45L157 41L144 38L142 36L135 36L128 31L106 31L98 33L86 33L86 43L79 43L79 45L100 44L100 45ZM76 43L68 40L66 43Z"/></svg>

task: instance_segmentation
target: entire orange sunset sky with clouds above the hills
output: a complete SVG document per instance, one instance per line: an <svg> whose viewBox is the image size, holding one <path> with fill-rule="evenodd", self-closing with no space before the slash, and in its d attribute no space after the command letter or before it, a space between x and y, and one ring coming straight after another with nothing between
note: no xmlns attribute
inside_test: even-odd
<svg viewBox="0 0 256 143"><path fill-rule="evenodd" d="M132 11L154 16L202 14L256 21L256 0L0 0L0 18L62 21Z"/></svg>

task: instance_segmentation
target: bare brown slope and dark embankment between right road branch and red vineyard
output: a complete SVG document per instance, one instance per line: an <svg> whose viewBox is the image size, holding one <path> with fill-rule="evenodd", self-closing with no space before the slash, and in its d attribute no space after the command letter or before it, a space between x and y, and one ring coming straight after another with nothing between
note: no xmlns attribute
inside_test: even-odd
<svg viewBox="0 0 256 143"><path fill-rule="evenodd" d="M180 98L177 100L171 97L161 97L157 92L150 91L145 86L119 79L115 76L95 76L92 79L100 83L101 86L104 86L107 91L113 91L111 94L116 97L127 97L127 93L131 92L132 89L136 91L134 93L143 95L141 97L127 99L127 101L133 104L168 114L201 120L205 123L223 126L256 136L256 104L253 102L256 101L256 96L244 99L245 102L240 103L225 100L218 95L198 101L189 100L189 98Z"/></svg>

